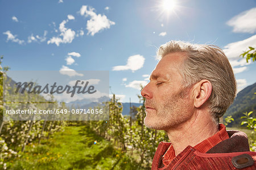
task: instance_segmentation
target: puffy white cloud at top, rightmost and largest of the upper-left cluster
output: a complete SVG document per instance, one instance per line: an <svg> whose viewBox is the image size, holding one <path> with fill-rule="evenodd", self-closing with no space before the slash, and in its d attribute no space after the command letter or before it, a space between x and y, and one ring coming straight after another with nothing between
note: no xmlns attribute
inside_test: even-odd
<svg viewBox="0 0 256 170"><path fill-rule="evenodd" d="M87 20L86 29L88 30L88 34L94 35L97 32L104 30L106 28L110 28L111 25L114 25L115 22L109 20L106 15L96 14L94 12L94 8L89 7L87 10L87 6L83 5L80 9L80 14L86 16L90 16L90 20Z"/></svg>

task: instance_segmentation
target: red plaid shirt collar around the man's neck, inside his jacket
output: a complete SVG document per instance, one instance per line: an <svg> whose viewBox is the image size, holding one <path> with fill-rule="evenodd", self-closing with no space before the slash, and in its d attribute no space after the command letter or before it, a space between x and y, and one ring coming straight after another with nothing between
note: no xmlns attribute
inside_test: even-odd
<svg viewBox="0 0 256 170"><path fill-rule="evenodd" d="M216 144L220 143L223 140L229 139L228 132L226 132L226 127L223 124L219 124L218 126L218 132L214 134L213 136L210 136L210 138L205 139L203 142L197 144L193 148L195 150L201 152L201 153L206 153L207 151L210 150L210 148L216 146ZM164 165L168 165L171 163L171 161L175 158L175 151L174 147L171 146L168 148L166 151L166 154L163 155L162 160Z"/></svg>

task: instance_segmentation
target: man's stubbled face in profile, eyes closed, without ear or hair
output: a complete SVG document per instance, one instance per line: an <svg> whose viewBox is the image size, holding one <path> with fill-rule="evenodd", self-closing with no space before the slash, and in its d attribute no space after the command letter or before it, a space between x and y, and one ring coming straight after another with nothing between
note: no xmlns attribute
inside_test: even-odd
<svg viewBox="0 0 256 170"><path fill-rule="evenodd" d="M159 61L151 73L150 82L141 94L146 98L148 128L167 130L191 118L192 101L189 89L184 89L178 67L184 62L185 53L169 53Z"/></svg>

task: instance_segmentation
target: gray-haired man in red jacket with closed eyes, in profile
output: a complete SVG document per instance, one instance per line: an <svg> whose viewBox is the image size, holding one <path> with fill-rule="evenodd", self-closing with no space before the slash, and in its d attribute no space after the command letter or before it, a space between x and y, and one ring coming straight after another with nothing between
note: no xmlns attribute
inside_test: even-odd
<svg viewBox="0 0 256 170"><path fill-rule="evenodd" d="M218 120L236 97L236 79L224 52L213 45L168 42L141 94L148 128L167 132L152 169L255 169L245 133ZM227 154L228 153L228 154Z"/></svg>

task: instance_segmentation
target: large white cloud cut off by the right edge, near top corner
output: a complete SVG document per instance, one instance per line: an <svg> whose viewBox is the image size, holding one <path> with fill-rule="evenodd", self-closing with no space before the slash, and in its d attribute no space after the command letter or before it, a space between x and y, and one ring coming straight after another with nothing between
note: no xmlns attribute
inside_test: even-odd
<svg viewBox="0 0 256 170"><path fill-rule="evenodd" d="M256 7L234 16L227 24L233 27L233 32L253 34L256 31Z"/></svg>

